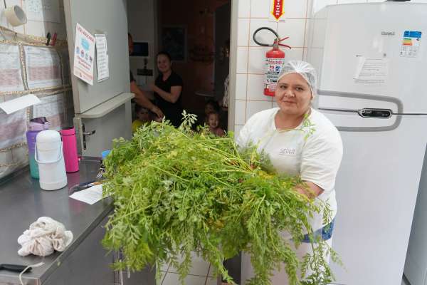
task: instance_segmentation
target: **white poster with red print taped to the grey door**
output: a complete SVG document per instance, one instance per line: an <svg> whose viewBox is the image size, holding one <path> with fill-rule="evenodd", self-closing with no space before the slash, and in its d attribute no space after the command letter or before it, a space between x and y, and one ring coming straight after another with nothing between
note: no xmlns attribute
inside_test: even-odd
<svg viewBox="0 0 427 285"><path fill-rule="evenodd" d="M77 23L75 26L73 73L90 85L93 85L94 56L95 37Z"/></svg>

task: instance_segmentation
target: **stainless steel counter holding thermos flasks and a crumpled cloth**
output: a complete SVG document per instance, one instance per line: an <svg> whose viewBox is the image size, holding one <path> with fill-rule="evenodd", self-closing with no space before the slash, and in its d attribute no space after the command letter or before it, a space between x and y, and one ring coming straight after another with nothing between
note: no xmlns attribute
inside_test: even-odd
<svg viewBox="0 0 427 285"><path fill-rule="evenodd" d="M112 211L112 199L106 198L90 205L71 199L70 188L80 182L94 180L99 161L82 160L80 171L68 174L68 186L61 190L41 190L38 180L31 178L28 168L0 185L0 264L36 264L31 273L23 274L24 284L42 284L85 237ZM39 217L51 217L73 232L73 242L64 252L48 257L20 257L18 237ZM89 264L88 264L89 265ZM0 284L19 284L18 275L0 270Z"/></svg>

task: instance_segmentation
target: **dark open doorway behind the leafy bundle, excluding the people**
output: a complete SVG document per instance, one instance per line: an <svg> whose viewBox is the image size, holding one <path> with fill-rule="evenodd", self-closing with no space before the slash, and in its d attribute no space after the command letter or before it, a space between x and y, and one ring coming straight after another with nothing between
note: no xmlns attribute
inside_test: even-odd
<svg viewBox="0 0 427 285"><path fill-rule="evenodd" d="M218 108L220 126L228 129L231 0L127 0L128 28L135 46L147 53L130 56L140 88L154 100L150 83L157 70L156 54L167 51L172 70L183 81L181 106L205 122L205 105ZM155 100L154 100L155 102Z"/></svg>

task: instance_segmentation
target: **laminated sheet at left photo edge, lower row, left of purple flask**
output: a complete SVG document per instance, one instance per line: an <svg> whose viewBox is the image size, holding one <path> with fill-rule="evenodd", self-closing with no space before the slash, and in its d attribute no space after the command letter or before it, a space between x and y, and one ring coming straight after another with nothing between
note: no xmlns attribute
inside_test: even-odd
<svg viewBox="0 0 427 285"><path fill-rule="evenodd" d="M7 115L0 110L0 149L26 141L26 109Z"/></svg>

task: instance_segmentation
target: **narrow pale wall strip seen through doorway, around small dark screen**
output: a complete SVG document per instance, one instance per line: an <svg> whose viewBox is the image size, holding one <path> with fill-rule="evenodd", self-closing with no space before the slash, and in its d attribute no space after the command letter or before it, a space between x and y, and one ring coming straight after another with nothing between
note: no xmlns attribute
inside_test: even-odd
<svg viewBox="0 0 427 285"><path fill-rule="evenodd" d="M127 0L127 23L134 41L149 41L147 68L154 71L154 56L157 51L156 0ZM137 68L144 68L144 58L131 56L130 69L137 76ZM147 78L147 83L154 81Z"/></svg>

